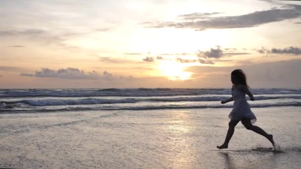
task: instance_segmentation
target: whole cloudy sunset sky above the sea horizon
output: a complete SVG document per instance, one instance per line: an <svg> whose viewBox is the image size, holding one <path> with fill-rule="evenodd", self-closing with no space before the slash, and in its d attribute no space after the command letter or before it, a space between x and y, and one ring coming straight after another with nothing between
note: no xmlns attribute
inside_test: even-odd
<svg viewBox="0 0 301 169"><path fill-rule="evenodd" d="M301 1L0 0L0 88L301 87Z"/></svg>

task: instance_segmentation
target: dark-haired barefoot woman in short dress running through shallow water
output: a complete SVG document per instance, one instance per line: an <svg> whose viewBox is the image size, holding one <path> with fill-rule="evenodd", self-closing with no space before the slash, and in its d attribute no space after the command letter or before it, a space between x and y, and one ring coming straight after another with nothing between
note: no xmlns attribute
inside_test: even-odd
<svg viewBox="0 0 301 169"><path fill-rule="evenodd" d="M231 121L229 122L229 129L224 144L221 146L216 146L219 149L228 148L229 141L234 133L234 127L239 123L260 135L266 137L274 147L273 135L266 133L263 129L257 126L253 126L251 122L256 121L256 117L251 111L250 105L246 100L246 93L249 95L250 100L254 101L254 97L249 90L247 84L246 75L241 69L234 70L231 73L231 82L232 82L232 97L228 100L221 101L221 104L225 104L230 101L234 101L234 107L229 114Z"/></svg>

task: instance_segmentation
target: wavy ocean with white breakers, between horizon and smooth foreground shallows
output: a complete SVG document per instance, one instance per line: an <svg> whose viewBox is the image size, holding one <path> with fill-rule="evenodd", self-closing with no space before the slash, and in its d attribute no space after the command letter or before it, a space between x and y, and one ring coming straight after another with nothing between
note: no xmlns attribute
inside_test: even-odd
<svg viewBox="0 0 301 169"><path fill-rule="evenodd" d="M251 107L301 106L301 89L254 88ZM0 113L231 108L229 88L0 89Z"/></svg>

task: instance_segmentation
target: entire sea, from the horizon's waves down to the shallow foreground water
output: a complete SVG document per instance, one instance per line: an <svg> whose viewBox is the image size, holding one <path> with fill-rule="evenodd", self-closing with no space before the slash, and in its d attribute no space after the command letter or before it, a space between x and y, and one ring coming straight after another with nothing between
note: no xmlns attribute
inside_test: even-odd
<svg viewBox="0 0 301 169"><path fill-rule="evenodd" d="M300 168L301 88L251 92L280 151L241 123L216 148L230 88L0 89L0 168Z"/></svg>

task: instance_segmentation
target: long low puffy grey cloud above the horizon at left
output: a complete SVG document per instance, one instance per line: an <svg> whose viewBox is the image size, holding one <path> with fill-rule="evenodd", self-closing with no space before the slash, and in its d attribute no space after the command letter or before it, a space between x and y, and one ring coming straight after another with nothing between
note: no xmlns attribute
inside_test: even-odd
<svg viewBox="0 0 301 169"><path fill-rule="evenodd" d="M21 73L20 76L34 76L39 78L61 78L61 79L90 79L96 80L100 79L100 76L95 71L85 73L83 70L77 68L66 68L59 69L57 71L42 68L40 71L36 71L35 74Z"/></svg>

